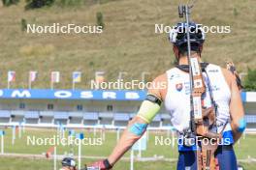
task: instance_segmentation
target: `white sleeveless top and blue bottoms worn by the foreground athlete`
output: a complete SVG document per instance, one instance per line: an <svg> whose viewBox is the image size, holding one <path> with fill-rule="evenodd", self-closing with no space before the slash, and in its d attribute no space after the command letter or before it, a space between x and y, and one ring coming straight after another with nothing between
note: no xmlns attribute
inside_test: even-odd
<svg viewBox="0 0 256 170"><path fill-rule="evenodd" d="M216 125L217 131L223 131L223 139L219 145L215 156L218 159L220 169L237 170L237 158L233 150L234 139L230 127L230 108L231 91L221 71L221 68L209 64L203 72L207 92L204 98L204 106L211 107L212 101L210 94L217 105ZM189 128L190 122L190 83L189 74L177 68L167 71L168 90L165 99L166 109L171 114L171 122L176 128L179 138L181 134ZM209 87L210 86L210 87ZM187 104L185 104L187 103ZM178 142L179 143L179 142ZM185 147L178 145L177 170L197 170L196 168L196 146Z"/></svg>

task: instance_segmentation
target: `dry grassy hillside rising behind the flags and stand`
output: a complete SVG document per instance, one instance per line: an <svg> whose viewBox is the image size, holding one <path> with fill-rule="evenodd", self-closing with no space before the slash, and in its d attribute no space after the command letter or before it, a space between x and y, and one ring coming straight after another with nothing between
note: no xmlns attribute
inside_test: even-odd
<svg viewBox="0 0 256 170"><path fill-rule="evenodd" d="M186 1L182 1L186 2ZM151 78L170 69L174 55L167 34L155 34L154 24L174 25L180 0L116 0L73 8L53 6L24 11L24 2L0 7L0 87L6 87L8 70L16 71L13 88L26 88L28 71L39 71L35 88L49 88L50 71L61 71L56 88L71 88L71 72L82 71L79 88L88 88L94 71L106 71L115 80L127 71L126 80ZM95 25L102 12L106 28L100 35L27 34L20 20L28 23ZM230 25L231 34L208 34L204 59L224 65L231 58L239 71L256 68L256 2L254 0L198 1L192 18L205 25Z"/></svg>

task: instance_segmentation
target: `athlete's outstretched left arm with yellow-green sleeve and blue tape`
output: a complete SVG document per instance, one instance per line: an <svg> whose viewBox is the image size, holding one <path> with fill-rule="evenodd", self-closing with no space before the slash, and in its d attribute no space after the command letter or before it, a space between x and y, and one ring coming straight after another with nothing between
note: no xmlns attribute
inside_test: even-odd
<svg viewBox="0 0 256 170"><path fill-rule="evenodd" d="M115 162L143 136L147 125L151 123L160 110L161 102L163 100L162 92L159 87L153 85L161 83L160 81L162 81L163 77L164 75L160 75L152 82L152 86L148 89L148 95L146 99L144 99L137 116L129 122L120 140L113 149L111 156L105 160L105 163L96 162L98 164L94 165L103 167L101 169L111 169L105 168L106 165L107 167L112 167Z"/></svg>

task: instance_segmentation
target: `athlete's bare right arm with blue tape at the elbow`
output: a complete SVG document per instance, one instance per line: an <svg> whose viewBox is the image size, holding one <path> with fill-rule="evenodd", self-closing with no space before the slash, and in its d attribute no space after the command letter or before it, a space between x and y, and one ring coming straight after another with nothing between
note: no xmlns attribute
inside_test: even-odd
<svg viewBox="0 0 256 170"><path fill-rule="evenodd" d="M230 114L231 128L235 142L240 139L241 133L246 128L244 120L244 110L240 98L240 90L236 81L236 77L229 71L223 71L231 91Z"/></svg>

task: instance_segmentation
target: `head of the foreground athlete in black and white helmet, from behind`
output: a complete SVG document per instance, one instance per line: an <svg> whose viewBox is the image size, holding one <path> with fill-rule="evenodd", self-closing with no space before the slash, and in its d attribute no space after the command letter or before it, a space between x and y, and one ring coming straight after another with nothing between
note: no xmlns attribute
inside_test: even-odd
<svg viewBox="0 0 256 170"><path fill-rule="evenodd" d="M179 22L172 29L169 35L169 40L174 44L173 50L178 60L181 56L187 56L187 34L186 22ZM203 50L205 42L205 33L201 24L190 22L188 27L190 35L191 52L197 52L199 55Z"/></svg>

